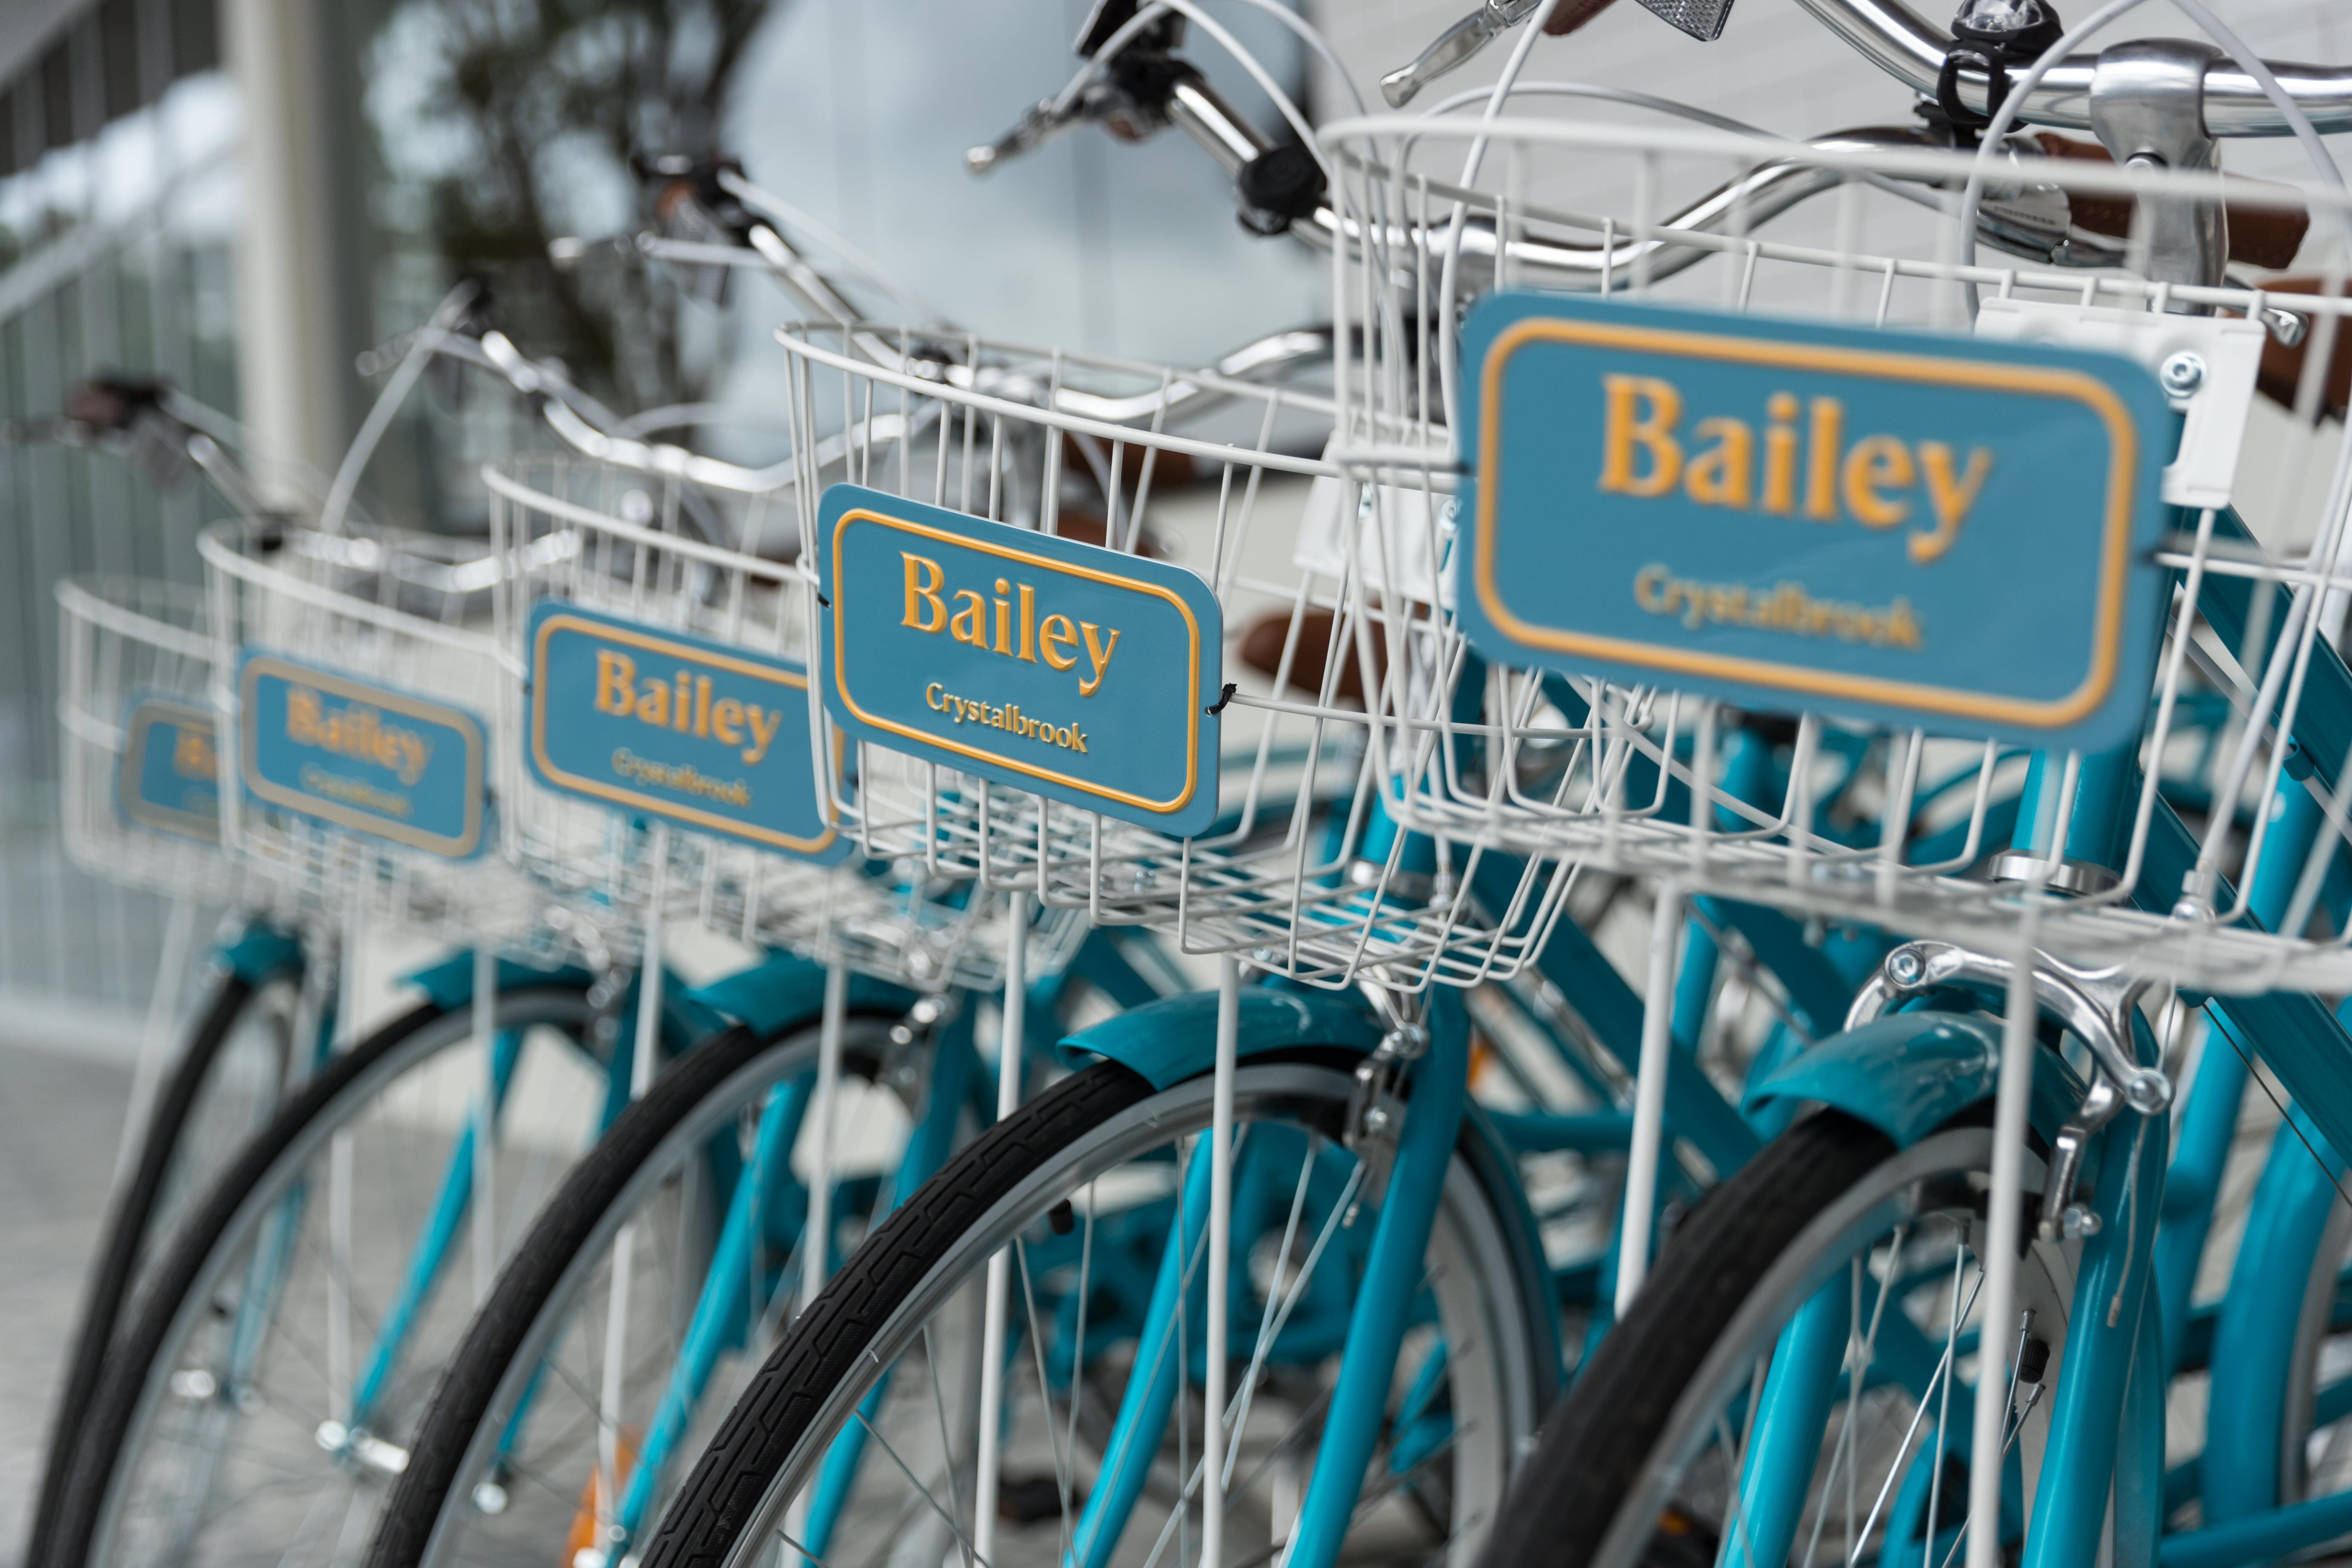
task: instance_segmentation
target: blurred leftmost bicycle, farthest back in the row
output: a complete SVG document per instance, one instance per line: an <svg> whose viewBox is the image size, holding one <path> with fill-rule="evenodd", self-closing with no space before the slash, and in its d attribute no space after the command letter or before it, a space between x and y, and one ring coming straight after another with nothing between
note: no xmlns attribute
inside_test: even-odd
<svg viewBox="0 0 2352 1568"><path fill-rule="evenodd" d="M270 524L242 433L167 383L101 376L75 388L59 421L14 435L118 451L158 487L202 475L233 512ZM325 475L275 477L315 498L329 489ZM96 1396L136 1284L155 1262L153 1239L174 1227L336 1041L336 945L346 924L343 910L306 905L221 844L209 691L216 649L202 595L125 578L66 581L59 609L68 853L92 875L174 898L176 940L167 940L160 987L179 983L200 905L238 914L212 950L209 990L186 1041L169 1065L143 1056L134 1079L118 1192L66 1359L28 1561L47 1554L80 1418Z"/></svg>

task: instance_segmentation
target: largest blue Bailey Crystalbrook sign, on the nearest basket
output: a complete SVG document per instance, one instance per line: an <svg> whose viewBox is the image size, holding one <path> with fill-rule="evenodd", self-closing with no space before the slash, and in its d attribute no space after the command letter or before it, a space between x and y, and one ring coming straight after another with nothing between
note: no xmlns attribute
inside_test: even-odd
<svg viewBox="0 0 2352 1568"><path fill-rule="evenodd" d="M2138 733L2176 421L2114 355L1498 294L1463 327L1470 642L2103 750Z"/></svg>

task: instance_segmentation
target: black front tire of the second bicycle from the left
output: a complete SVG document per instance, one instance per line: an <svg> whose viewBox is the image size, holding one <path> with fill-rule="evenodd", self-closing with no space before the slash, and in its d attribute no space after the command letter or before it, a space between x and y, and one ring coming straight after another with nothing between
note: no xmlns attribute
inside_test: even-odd
<svg viewBox="0 0 2352 1568"><path fill-rule="evenodd" d="M586 1020L593 1013L586 990L586 983L546 980L501 990L499 1006L529 1009L543 1001L553 1013L557 1006L576 1004L581 1020ZM470 1001L459 1001L456 1009L423 1001L320 1067L278 1117L242 1147L191 1211L172 1239L172 1248L155 1265L127 1331L108 1356L106 1375L82 1422L82 1441L59 1507L47 1566L28 1563L28 1568L80 1568L89 1561L122 1448L151 1399L151 1373L158 1371L165 1349L179 1333L179 1319L188 1309L188 1298L200 1288L212 1253L247 1218L245 1211L256 1190L278 1171L280 1161L322 1138L313 1124L336 1112L346 1095L379 1093L383 1081L405 1070L409 1065L407 1048L423 1030L468 1013Z"/></svg>

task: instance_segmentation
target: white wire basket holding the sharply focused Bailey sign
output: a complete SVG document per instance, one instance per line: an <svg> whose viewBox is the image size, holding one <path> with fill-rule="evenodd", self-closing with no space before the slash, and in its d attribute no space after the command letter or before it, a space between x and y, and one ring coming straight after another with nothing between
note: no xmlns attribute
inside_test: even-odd
<svg viewBox="0 0 2352 1568"><path fill-rule="evenodd" d="M1341 545L1343 473L1319 456L1329 395L1254 374L1284 355L1178 371L863 324L790 324L779 341L802 538L826 487L854 482L1174 559L1223 609L1211 832L1171 839L861 741L835 806L868 853L1324 987L1477 985L1541 952L1573 867L1498 860L1510 893L1479 900L1479 846L1392 832L1378 809L1369 738L1414 670L1383 668L1376 644L1411 632Z"/></svg>

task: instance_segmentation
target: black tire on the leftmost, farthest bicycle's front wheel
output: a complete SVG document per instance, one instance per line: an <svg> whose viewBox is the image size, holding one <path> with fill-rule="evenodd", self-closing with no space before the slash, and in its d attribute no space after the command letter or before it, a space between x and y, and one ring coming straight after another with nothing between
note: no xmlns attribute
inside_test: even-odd
<svg viewBox="0 0 2352 1568"><path fill-rule="evenodd" d="M106 1215L99 1234L99 1255L89 1267L89 1286L82 1293L82 1314L75 1326L73 1349L66 1356L66 1382L56 1399L56 1420L49 1427L47 1462L40 1474L40 1500L33 1507L33 1535L26 1542L24 1561L42 1563L56 1535L56 1514L66 1502L66 1483L73 1474L73 1455L80 1443L82 1413L99 1392L106 1375L106 1359L115 1345L115 1331L132 1300L139 1262L148 1255L155 1227L155 1211L162 1201L165 1180L174 1173L188 1119L219 1063L221 1046L228 1044L247 1006L263 994L252 980L223 973L212 992L212 1001L195 1020L172 1077L155 1095L155 1107L139 1145L139 1164Z"/></svg>

